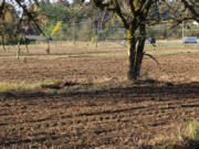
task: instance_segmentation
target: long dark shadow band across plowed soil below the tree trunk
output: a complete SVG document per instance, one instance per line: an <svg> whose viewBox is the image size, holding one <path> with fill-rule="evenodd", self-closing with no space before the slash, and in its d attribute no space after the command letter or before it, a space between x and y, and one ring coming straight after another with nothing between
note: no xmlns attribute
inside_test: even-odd
<svg viewBox="0 0 199 149"><path fill-rule="evenodd" d="M75 83L73 84L75 85ZM78 84L80 85L80 84ZM56 87L57 91L61 87ZM127 85L124 87L115 87L108 89L98 89L98 91L84 91L84 92L65 92L59 94L44 93L42 91L38 92L19 92L19 93L1 93L3 97L22 97L24 98L36 98L36 97L72 97L72 96L113 96L125 99L127 97L133 103L140 103L148 100L148 97L151 100L164 102L172 99L199 99L199 82L184 83L184 84L172 84L170 82L158 82L154 79L140 81ZM130 96L130 98L129 98ZM147 98L145 98L147 97ZM184 105L186 106L186 105ZM199 105L189 105L193 107L199 107Z"/></svg>

